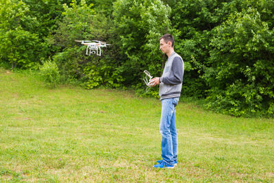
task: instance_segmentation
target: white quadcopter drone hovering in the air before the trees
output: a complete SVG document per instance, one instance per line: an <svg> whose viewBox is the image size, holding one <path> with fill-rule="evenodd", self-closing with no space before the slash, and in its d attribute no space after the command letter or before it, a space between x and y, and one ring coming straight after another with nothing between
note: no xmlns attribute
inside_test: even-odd
<svg viewBox="0 0 274 183"><path fill-rule="evenodd" d="M90 54L97 54L97 56L101 56L101 47L107 47L106 42L101 42L100 40L75 40L76 42L81 42L82 45L86 45L86 55L90 56Z"/></svg>

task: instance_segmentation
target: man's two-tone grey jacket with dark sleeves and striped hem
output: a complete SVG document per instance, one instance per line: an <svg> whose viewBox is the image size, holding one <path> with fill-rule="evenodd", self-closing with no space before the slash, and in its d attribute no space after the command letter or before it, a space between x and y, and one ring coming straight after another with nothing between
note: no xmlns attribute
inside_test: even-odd
<svg viewBox="0 0 274 183"><path fill-rule="evenodd" d="M177 53L171 53L160 77L160 99L180 97L184 76L184 61Z"/></svg>

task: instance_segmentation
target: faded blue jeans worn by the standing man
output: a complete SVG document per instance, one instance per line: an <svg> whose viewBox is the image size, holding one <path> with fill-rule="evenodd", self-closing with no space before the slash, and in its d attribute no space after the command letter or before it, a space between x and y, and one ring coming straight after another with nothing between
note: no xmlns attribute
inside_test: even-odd
<svg viewBox="0 0 274 183"><path fill-rule="evenodd" d="M160 134L162 135L162 159L173 165L177 160L178 144L177 130L175 125L175 106L179 97L162 99L162 114L160 121Z"/></svg>

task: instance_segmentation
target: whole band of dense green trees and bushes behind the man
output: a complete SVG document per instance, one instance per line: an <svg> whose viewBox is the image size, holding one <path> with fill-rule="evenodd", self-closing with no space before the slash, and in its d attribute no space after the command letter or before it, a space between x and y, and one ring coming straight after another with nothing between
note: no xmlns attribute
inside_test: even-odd
<svg viewBox="0 0 274 183"><path fill-rule="evenodd" d="M38 69L53 59L60 82L145 93L145 69L160 76L160 36L184 59L182 95L235 116L274 112L273 0L0 0L0 65ZM112 44L86 56L75 40ZM44 62L49 64L49 62ZM42 67L44 67L43 65ZM54 70L54 69L53 69Z"/></svg>

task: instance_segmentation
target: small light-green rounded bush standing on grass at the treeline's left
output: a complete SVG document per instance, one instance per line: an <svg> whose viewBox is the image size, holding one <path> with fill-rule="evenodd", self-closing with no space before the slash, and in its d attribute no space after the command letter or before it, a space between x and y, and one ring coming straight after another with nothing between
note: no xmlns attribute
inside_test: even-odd
<svg viewBox="0 0 274 183"><path fill-rule="evenodd" d="M60 82L60 73L55 62L47 60L40 66L40 75L50 88L56 88Z"/></svg>

